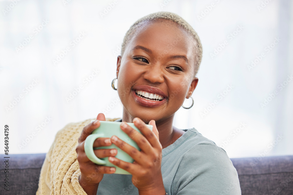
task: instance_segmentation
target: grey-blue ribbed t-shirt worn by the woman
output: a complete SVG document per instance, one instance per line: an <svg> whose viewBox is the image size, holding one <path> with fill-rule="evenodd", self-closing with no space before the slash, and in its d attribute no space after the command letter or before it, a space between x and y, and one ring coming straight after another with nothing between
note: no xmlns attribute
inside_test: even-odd
<svg viewBox="0 0 293 195"><path fill-rule="evenodd" d="M161 172L168 195L241 195L237 171L226 151L195 128L184 131L162 150ZM97 194L138 195L131 178L104 174Z"/></svg>

